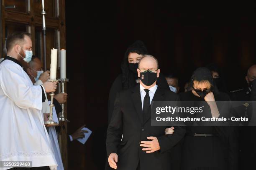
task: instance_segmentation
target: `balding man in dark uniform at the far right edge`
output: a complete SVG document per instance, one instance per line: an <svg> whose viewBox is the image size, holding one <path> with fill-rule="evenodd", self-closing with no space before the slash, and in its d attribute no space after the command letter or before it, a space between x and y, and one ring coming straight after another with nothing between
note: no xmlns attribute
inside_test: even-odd
<svg viewBox="0 0 256 170"><path fill-rule="evenodd" d="M245 76L247 87L230 93L234 101L241 102L241 107L235 109L239 116L252 117L253 107L250 101L256 101L256 65L249 67ZM254 121L255 122L255 121ZM256 160L256 127L239 127L239 170L251 169Z"/></svg>

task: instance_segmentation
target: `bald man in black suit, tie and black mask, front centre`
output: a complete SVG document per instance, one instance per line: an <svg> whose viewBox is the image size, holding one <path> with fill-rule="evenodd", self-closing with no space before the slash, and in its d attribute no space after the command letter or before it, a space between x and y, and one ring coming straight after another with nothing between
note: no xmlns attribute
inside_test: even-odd
<svg viewBox="0 0 256 170"><path fill-rule="evenodd" d="M152 55L143 55L138 64L140 83L118 92L107 131L108 163L118 170L173 170L173 148L183 138L183 127L164 135L166 126L151 126L151 102L177 101L170 90L156 85L160 69ZM123 135L123 138L122 138ZM122 140L121 140L122 139Z"/></svg>

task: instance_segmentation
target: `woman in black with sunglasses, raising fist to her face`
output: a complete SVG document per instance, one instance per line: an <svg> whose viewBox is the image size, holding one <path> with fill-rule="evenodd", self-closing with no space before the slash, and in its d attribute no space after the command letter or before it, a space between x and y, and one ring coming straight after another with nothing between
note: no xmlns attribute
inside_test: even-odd
<svg viewBox="0 0 256 170"><path fill-rule="evenodd" d="M218 91L210 70L205 67L195 70L191 77L191 87L191 91L180 93L180 99L189 101L190 107L204 105L201 115L197 113L192 116L201 117L202 114L205 117L223 116L220 105L225 102L219 104L216 101L229 101L230 99L227 94ZM187 126L186 130L182 144L181 170L237 169L237 140L233 127L194 124ZM172 130L166 129L165 133L169 134L169 132Z"/></svg>

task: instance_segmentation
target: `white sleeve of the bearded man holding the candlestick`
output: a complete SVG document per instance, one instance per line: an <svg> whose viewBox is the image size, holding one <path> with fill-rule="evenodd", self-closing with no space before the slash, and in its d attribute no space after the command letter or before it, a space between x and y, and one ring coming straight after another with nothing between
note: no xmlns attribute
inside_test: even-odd
<svg viewBox="0 0 256 170"><path fill-rule="evenodd" d="M42 109L42 88L40 85L29 87L26 79L19 75L20 70L3 66L0 70L0 88L7 97L23 109Z"/></svg>

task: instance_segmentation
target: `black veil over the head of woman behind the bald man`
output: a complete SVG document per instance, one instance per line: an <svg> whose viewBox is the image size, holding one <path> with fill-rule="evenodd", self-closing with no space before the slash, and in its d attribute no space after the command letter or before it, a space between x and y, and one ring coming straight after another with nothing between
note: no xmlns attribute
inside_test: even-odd
<svg viewBox="0 0 256 170"><path fill-rule="evenodd" d="M129 69L128 55L131 52L142 55L148 54L148 50L141 40L137 40L128 47L123 57L123 62L121 63L123 89L128 89L136 85L136 75Z"/></svg>

